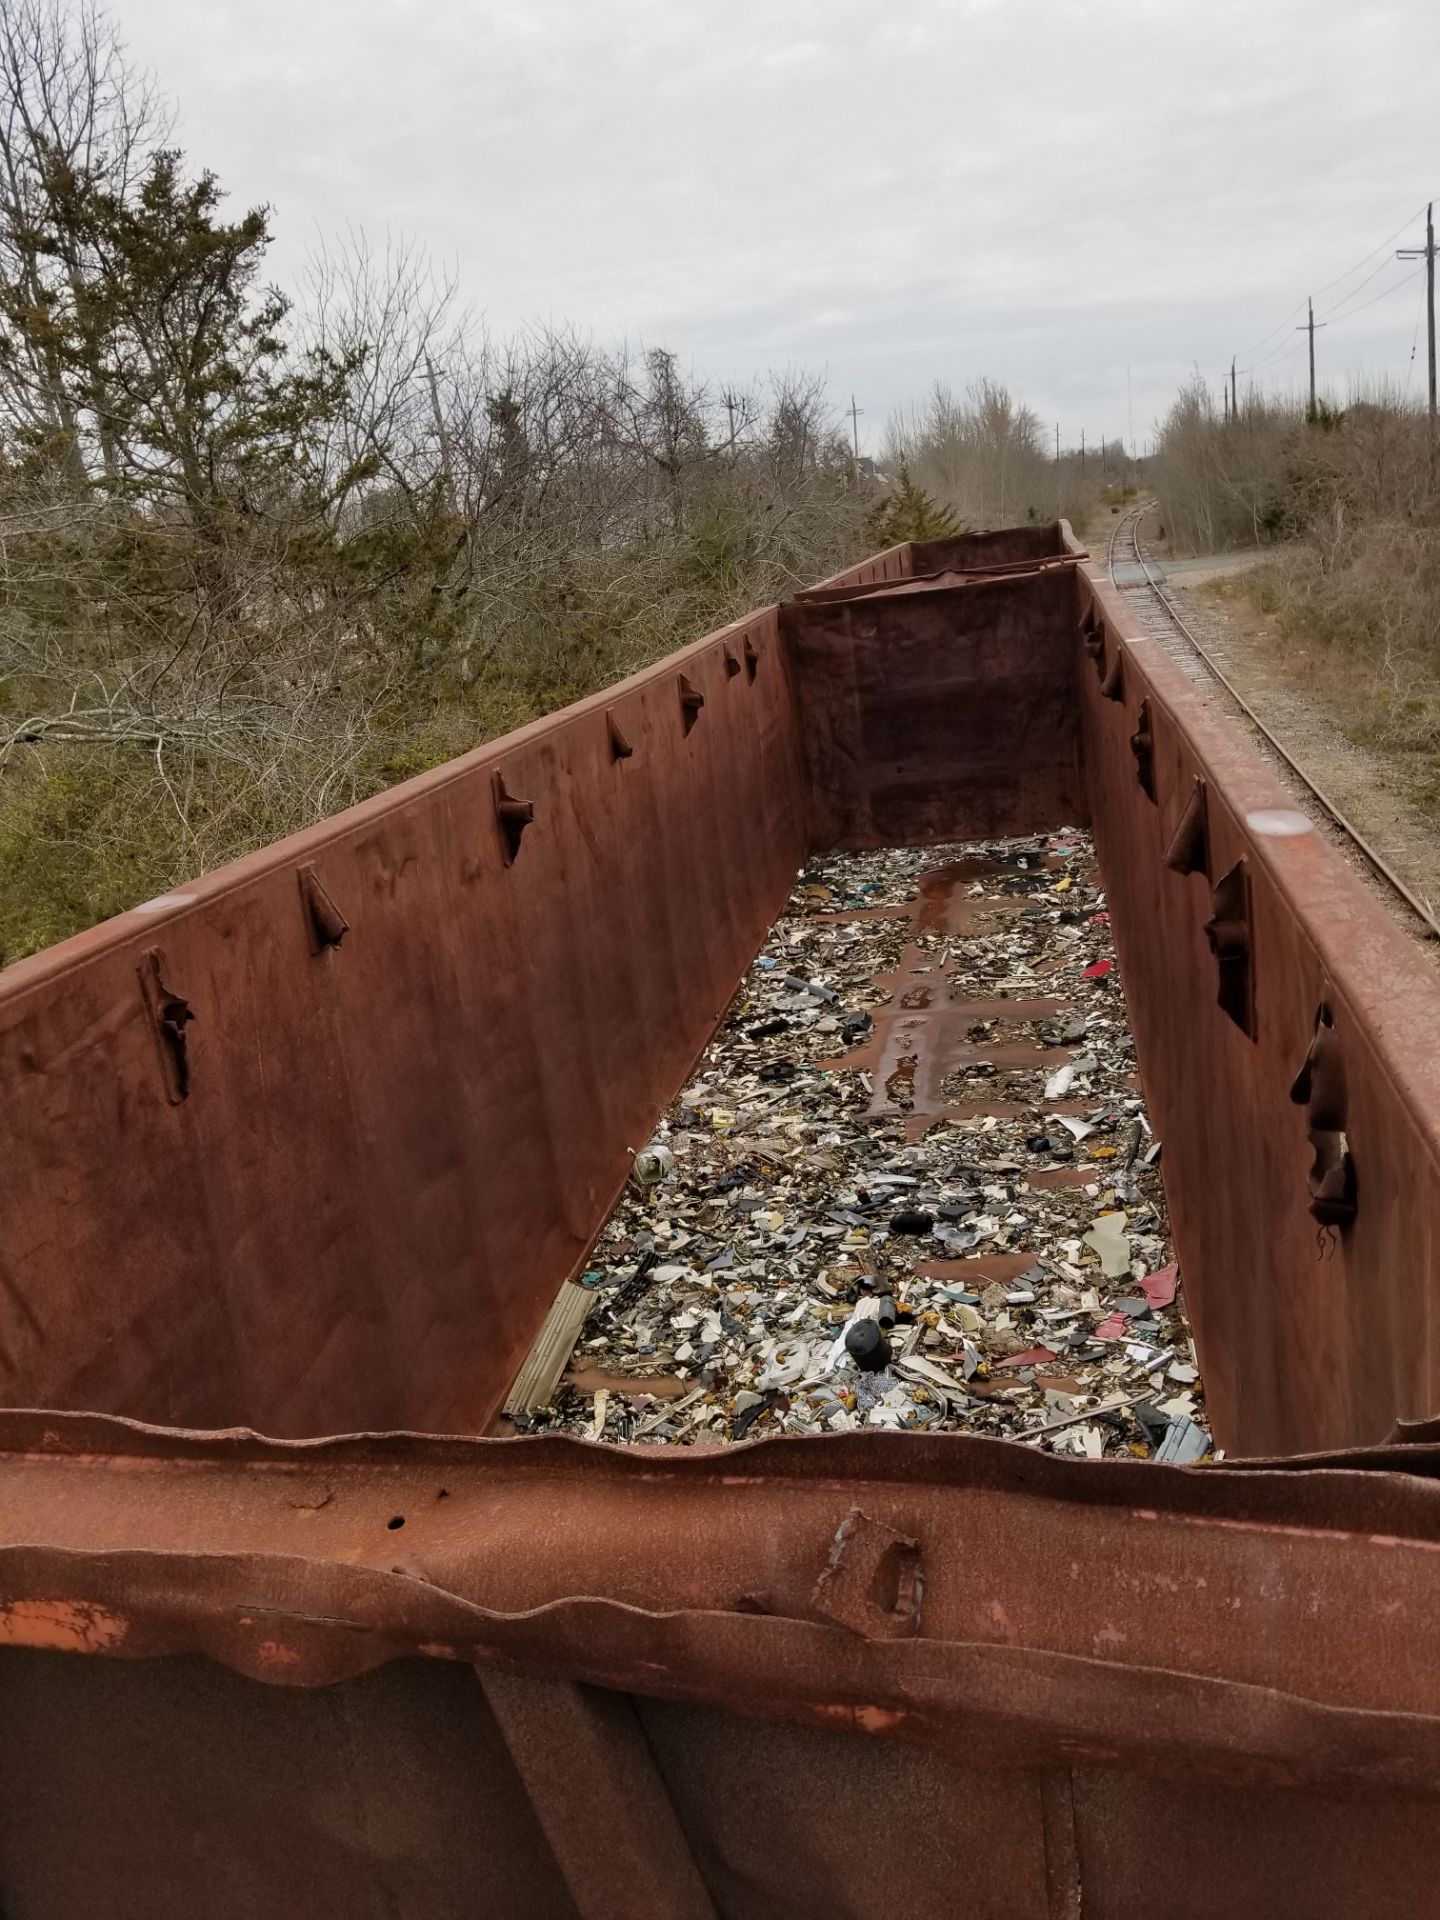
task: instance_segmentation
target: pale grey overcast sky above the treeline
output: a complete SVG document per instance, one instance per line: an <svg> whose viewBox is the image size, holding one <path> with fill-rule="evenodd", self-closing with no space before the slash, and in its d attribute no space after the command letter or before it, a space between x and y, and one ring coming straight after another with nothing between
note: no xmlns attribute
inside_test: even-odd
<svg viewBox="0 0 1440 1920"><path fill-rule="evenodd" d="M1129 365L1142 444L1194 365L1302 380L1309 292L1323 372L1425 386L1421 271L1386 253L1440 194L1436 0L115 12L192 159L273 204L282 284L321 232L403 234L493 332L826 369L862 442L977 374L1068 444L1127 434Z"/></svg>

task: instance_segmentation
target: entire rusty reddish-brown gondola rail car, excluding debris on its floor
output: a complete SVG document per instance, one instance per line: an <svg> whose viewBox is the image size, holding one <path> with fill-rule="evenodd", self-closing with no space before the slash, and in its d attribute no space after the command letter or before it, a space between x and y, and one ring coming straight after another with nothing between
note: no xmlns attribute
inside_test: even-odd
<svg viewBox="0 0 1440 1920"><path fill-rule="evenodd" d="M804 856L1062 826L1225 1465L451 1438ZM1440 1905L1438 1014L1064 526L8 970L0 1912Z"/></svg>

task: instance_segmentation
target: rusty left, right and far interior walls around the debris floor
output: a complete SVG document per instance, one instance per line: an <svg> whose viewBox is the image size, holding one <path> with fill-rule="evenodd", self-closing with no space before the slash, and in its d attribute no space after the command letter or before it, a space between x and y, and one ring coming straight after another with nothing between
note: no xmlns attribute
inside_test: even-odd
<svg viewBox="0 0 1440 1920"><path fill-rule="evenodd" d="M893 549L8 970L0 1400L484 1430L806 851L1064 824L1217 1438L1430 1415L1440 989L1058 526Z"/></svg>

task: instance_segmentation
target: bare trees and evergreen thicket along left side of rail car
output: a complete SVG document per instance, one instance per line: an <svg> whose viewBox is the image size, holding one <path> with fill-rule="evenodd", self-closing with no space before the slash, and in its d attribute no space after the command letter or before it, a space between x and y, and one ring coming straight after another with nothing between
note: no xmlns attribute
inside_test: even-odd
<svg viewBox="0 0 1440 1920"><path fill-rule="evenodd" d="M0 947L591 691L864 545L824 382L495 342L363 234L300 307L92 0L0 0Z"/></svg>

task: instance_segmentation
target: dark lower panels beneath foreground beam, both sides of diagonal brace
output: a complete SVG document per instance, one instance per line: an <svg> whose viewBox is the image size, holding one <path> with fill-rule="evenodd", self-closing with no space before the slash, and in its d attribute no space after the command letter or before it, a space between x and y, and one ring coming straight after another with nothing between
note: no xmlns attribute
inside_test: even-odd
<svg viewBox="0 0 1440 1920"><path fill-rule="evenodd" d="M0 1703L0 1885L25 1920L687 1910L664 1882L628 1908L564 1884L465 1667L409 1659L307 1692L202 1661L10 1651ZM895 1912L985 1920L1415 1920L1440 1868L1436 1809L1404 1795L1006 1766L985 1728L966 1763L720 1705L636 1711L722 1920L860 1920L877 1884ZM557 1812L566 1797L603 1857L603 1812L557 1782ZM1056 1801L1073 1803L1069 1862Z"/></svg>

